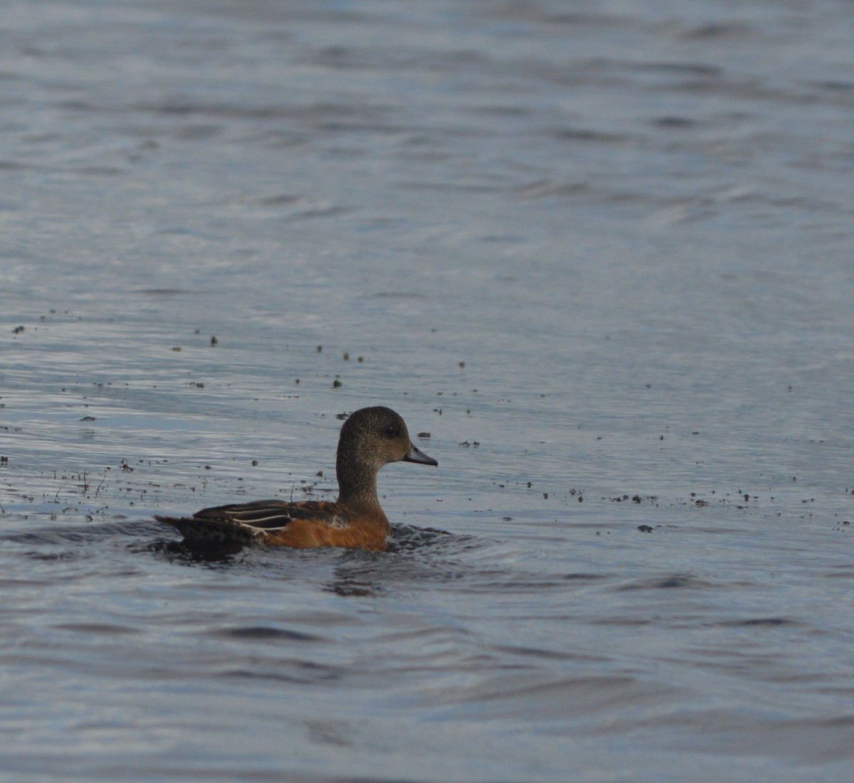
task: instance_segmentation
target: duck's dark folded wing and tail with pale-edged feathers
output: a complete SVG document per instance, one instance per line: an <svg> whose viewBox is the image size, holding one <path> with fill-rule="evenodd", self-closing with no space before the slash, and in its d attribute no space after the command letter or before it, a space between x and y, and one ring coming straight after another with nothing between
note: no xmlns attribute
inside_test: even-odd
<svg viewBox="0 0 854 783"><path fill-rule="evenodd" d="M202 508L191 517L155 515L159 522L178 528L185 538L197 542L269 542L294 522L311 522L340 528L348 515L340 505L328 501L289 503L279 500L233 503Z"/></svg>

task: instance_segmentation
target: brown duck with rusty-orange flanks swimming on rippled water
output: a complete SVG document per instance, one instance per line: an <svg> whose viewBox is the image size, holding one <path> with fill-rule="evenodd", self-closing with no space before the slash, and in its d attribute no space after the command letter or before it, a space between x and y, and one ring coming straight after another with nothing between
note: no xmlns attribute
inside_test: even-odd
<svg viewBox="0 0 854 783"><path fill-rule="evenodd" d="M412 444L400 414L384 406L362 408L348 416L338 438L335 502L260 500L202 508L190 517L155 514L155 519L180 531L188 544L382 552L391 528L377 497L377 473L390 462L439 464Z"/></svg>

